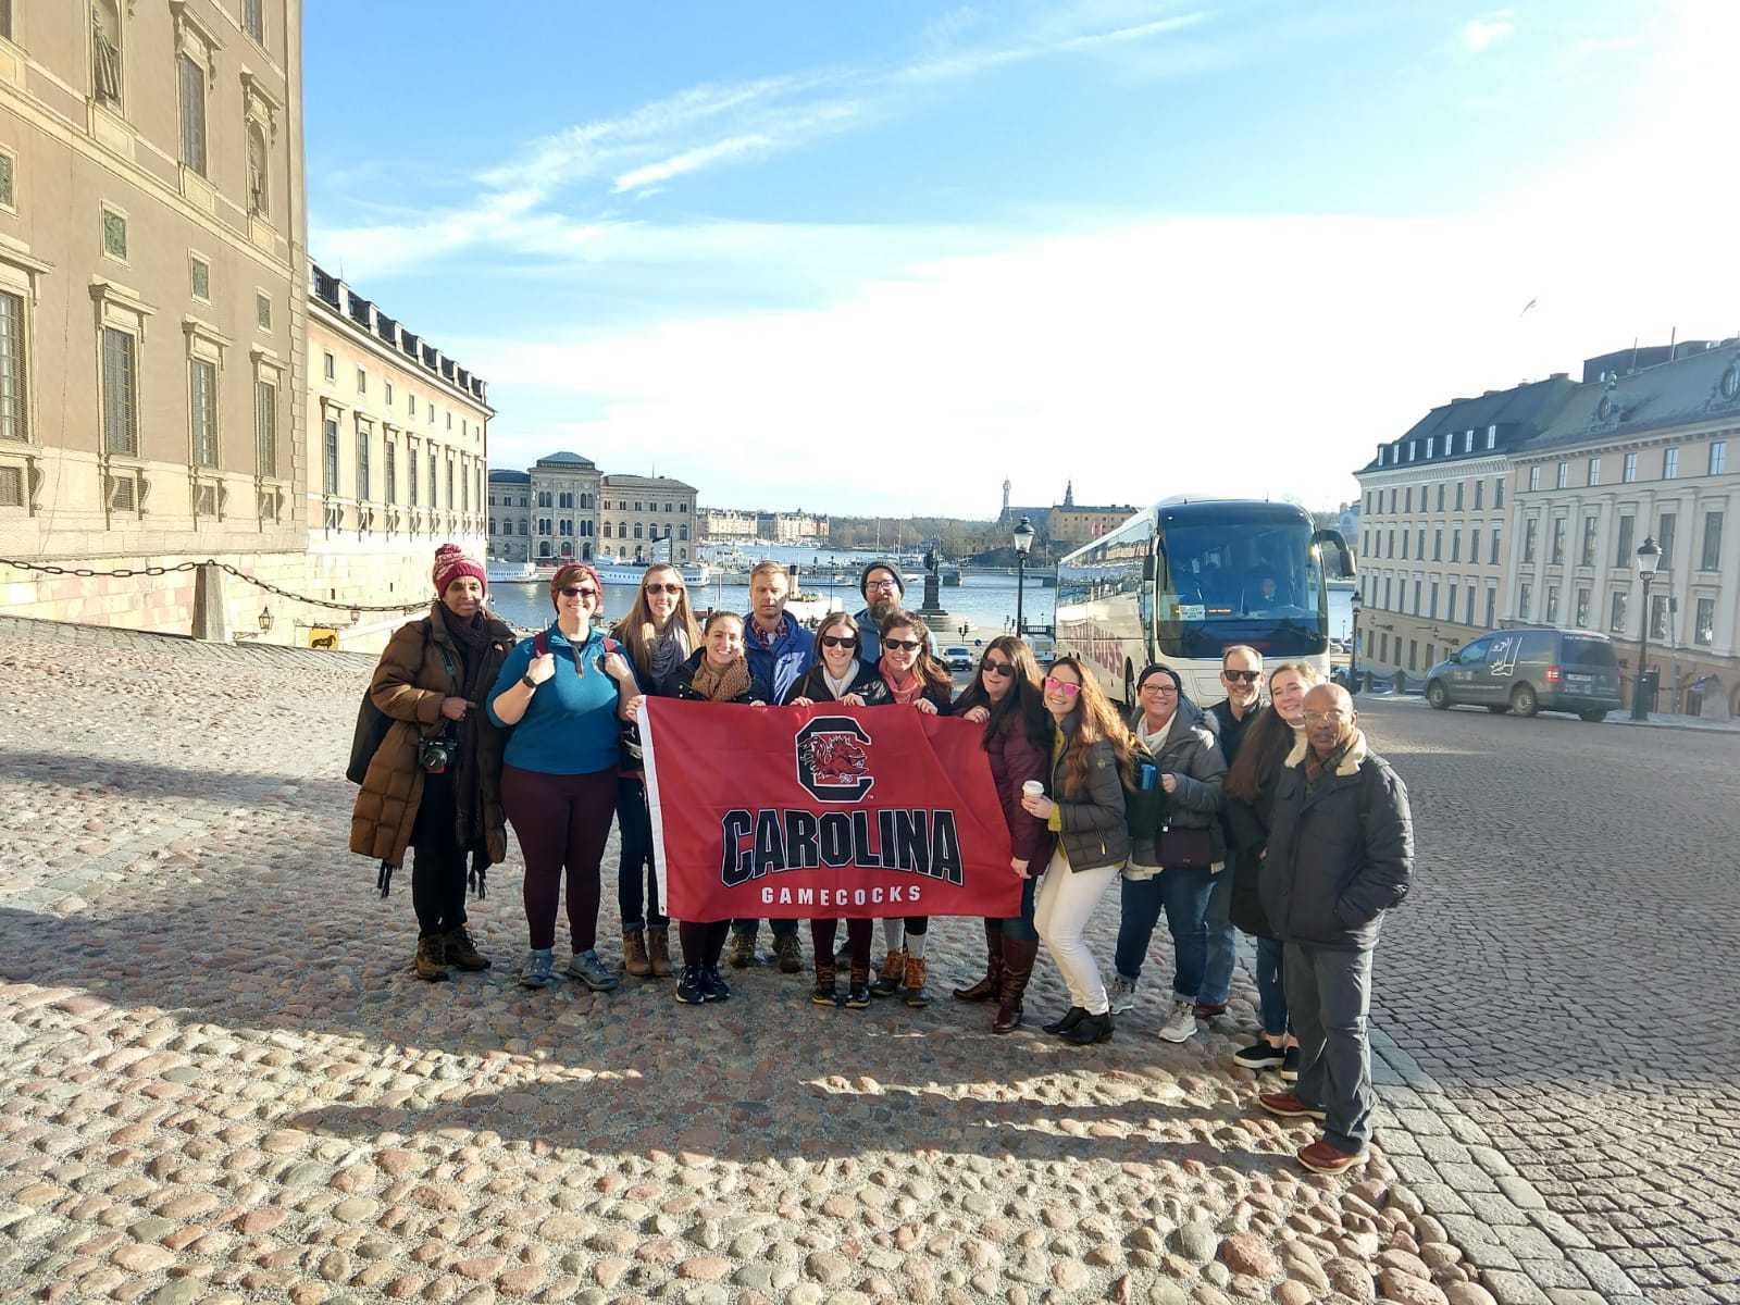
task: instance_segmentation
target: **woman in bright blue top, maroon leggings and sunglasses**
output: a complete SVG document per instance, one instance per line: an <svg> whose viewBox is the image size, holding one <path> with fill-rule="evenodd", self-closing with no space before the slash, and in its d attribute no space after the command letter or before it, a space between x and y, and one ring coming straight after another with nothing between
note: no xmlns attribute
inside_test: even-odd
<svg viewBox="0 0 1740 1305"><path fill-rule="evenodd" d="M525 854L531 952L520 983L555 981L555 910L566 873L574 955L564 973L609 992L618 978L597 952L599 863L616 813L618 713L633 698L635 675L595 625L604 606L597 571L585 562L557 567L550 604L555 621L513 647L489 694L489 719L513 731L501 800Z"/></svg>

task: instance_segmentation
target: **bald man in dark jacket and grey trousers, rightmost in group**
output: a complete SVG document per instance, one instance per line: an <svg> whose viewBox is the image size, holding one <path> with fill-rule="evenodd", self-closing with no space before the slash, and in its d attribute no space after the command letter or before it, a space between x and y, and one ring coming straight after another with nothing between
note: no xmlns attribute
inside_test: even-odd
<svg viewBox="0 0 1740 1305"><path fill-rule="evenodd" d="M1338 684L1305 694L1305 740L1275 781L1274 823L1260 891L1286 945L1284 983L1300 1039L1291 1093L1258 1096L1284 1119L1324 1121L1300 1148L1314 1173L1366 1161L1371 1140L1371 952L1383 912L1413 879L1408 788L1366 746L1354 699Z"/></svg>

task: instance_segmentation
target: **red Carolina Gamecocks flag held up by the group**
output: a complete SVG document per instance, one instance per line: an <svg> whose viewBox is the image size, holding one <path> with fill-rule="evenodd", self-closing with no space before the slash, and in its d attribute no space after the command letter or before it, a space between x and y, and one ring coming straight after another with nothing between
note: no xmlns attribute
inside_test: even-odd
<svg viewBox="0 0 1740 1305"><path fill-rule="evenodd" d="M640 712L663 910L679 920L1021 910L981 726L907 706Z"/></svg>

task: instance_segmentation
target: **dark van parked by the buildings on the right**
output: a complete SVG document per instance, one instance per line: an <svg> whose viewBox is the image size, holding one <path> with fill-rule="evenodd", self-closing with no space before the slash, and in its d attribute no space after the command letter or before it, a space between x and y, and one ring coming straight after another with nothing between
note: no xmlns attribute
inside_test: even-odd
<svg viewBox="0 0 1740 1305"><path fill-rule="evenodd" d="M1467 703L1488 712L1575 712L1603 720L1622 706L1620 665L1613 640L1589 630L1493 630L1427 672L1425 699L1439 712Z"/></svg>

